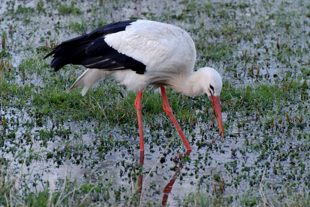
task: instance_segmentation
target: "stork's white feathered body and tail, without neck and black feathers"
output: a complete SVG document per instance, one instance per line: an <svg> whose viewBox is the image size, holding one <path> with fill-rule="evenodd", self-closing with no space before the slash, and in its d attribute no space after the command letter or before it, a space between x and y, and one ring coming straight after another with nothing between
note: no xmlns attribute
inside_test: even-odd
<svg viewBox="0 0 310 207"><path fill-rule="evenodd" d="M193 73L196 49L192 38L183 29L171 24L137 20L120 31L104 36L104 41L119 53L125 54L146 66L144 74L132 70L102 70L88 68L70 88L85 85L88 88L107 76L114 77L127 90L144 90L168 86L184 92L184 79ZM184 83L184 82L183 82ZM181 87L180 87L181 85Z"/></svg>

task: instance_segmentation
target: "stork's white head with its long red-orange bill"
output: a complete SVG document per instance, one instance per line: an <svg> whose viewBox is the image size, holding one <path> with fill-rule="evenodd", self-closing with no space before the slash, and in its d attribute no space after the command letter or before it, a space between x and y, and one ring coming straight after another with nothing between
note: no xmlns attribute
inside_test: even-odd
<svg viewBox="0 0 310 207"><path fill-rule="evenodd" d="M215 110L217 123L219 124L219 129L222 136L224 137L221 101L219 100L219 95L221 94L223 86L221 75L219 75L219 73L215 69L210 67L203 67L200 70L202 70L203 74L206 75L206 78L204 79L204 84L202 86L203 91L210 97L213 108Z"/></svg>

